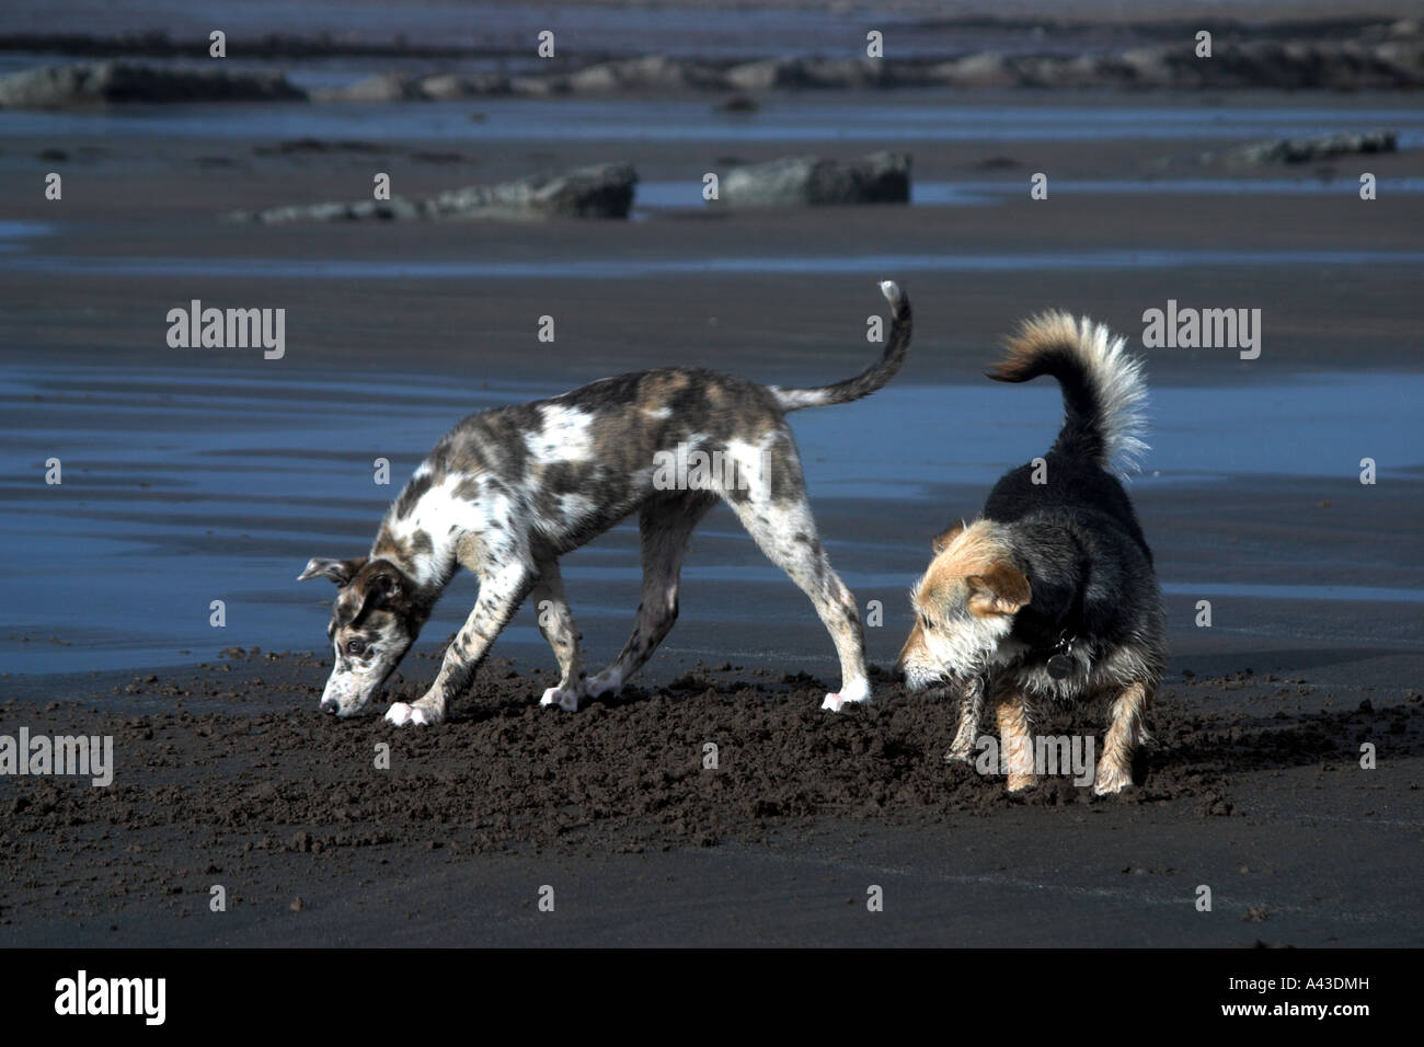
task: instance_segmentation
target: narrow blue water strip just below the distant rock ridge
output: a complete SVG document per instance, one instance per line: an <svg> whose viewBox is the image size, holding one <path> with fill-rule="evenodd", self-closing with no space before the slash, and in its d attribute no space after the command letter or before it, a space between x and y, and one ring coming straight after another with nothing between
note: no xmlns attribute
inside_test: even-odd
<svg viewBox="0 0 1424 1047"><path fill-rule="evenodd" d="M1119 101L1119 100L1118 100ZM478 114L471 120L471 114ZM471 98L451 103L125 105L101 111L0 111L0 140L84 138L598 142L1049 142L1252 141L1257 138L1398 131L1398 147L1424 144L1424 113L1408 105L1189 107L985 105L944 93L886 93L874 101L797 94L752 114L715 111L706 98Z"/></svg>

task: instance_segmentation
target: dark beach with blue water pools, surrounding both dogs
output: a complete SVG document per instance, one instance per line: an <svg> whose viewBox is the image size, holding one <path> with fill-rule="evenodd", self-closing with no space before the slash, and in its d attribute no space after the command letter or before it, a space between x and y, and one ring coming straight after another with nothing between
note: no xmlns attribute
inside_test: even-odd
<svg viewBox="0 0 1424 1047"><path fill-rule="evenodd" d="M24 187L0 208L0 734L111 735L115 754L107 788L0 778L0 946L1418 944L1417 97L716 101L0 111L0 178ZM1400 148L1226 160L1373 127ZM911 154L909 205L701 198L732 160L876 150ZM638 171L628 221L226 219L360 199L377 171L422 198L604 161ZM873 707L819 712L830 641L719 507L676 628L621 697L538 708L554 661L524 608L451 722L384 724L468 611L461 577L377 715L318 712L330 590L292 580L363 553L460 417L669 363L842 379L876 352L880 279L914 302L903 372L793 417L830 558L881 608ZM285 308L285 355L169 348L165 315L192 299ZM1260 309L1260 355L1143 348L1143 311L1168 301ZM1055 389L981 377L1045 308L1126 335L1153 395L1129 490L1172 662L1138 786L1108 799L1065 776L1011 799L944 765L953 711L889 674L930 537L1057 432ZM44 483L51 457L63 484ZM627 634L637 564L632 524L564 560L594 668ZM887 902L867 919L870 885Z"/></svg>

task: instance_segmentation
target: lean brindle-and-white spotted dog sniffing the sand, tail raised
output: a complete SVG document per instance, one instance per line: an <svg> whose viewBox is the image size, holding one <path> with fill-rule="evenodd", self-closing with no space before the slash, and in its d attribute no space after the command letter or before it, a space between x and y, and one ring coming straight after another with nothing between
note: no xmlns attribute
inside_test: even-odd
<svg viewBox="0 0 1424 1047"><path fill-rule="evenodd" d="M473 415L416 469L386 513L370 554L313 558L340 588L328 634L336 664L320 708L360 712L414 644L459 567L480 578L464 627L430 689L396 702L393 724L439 724L525 597L561 678L544 705L577 711L617 692L678 617L678 578L692 530L721 497L762 551L810 597L840 657L840 691L823 708L870 698L854 597L826 558L806 501L786 415L849 403L889 382L910 348L910 302L891 283L890 339L880 362L830 386L779 389L699 368L607 377L551 400ZM699 469L711 462L713 467ZM691 473L679 469L693 463ZM637 510L642 603L622 654L588 678L564 600L558 557Z"/></svg>

